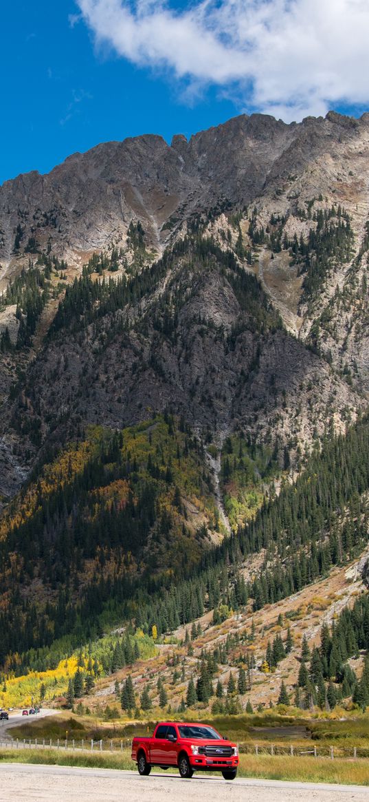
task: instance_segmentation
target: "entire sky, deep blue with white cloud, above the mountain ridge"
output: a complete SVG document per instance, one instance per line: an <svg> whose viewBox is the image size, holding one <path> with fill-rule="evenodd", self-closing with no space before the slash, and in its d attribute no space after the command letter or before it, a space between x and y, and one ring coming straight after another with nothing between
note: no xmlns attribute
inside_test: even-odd
<svg viewBox="0 0 369 802"><path fill-rule="evenodd" d="M2 10L0 182L241 111L369 107L367 0L33 0Z"/></svg>

